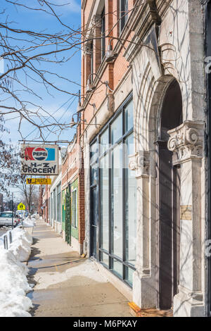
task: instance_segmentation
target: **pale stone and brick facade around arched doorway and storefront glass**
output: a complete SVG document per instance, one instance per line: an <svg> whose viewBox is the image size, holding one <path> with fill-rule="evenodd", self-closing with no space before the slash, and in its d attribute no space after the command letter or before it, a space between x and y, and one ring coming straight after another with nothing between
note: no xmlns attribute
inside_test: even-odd
<svg viewBox="0 0 211 331"><path fill-rule="evenodd" d="M82 1L82 26L91 27L103 1ZM180 226L179 292L174 296L174 316L205 314L205 75L203 69L203 15L199 0L129 1L127 29L118 36L115 1L105 1L107 27L114 27L108 38L115 37L113 49L118 56L112 63L98 66L94 84L108 81L98 94L89 94L84 118L85 227L84 250L90 254L90 172L89 144L103 125L117 111L129 93L134 103L135 154L129 156L129 168L136 174L137 237L136 271L133 301L141 308L159 308L159 226L155 142L165 94L174 80L179 84L182 100L182 124L168 130L168 149L175 155L173 165L181 171L180 210L188 206L190 220ZM108 7L110 10L108 11ZM98 24L95 26L99 26ZM95 28L95 27L94 27ZM89 28L87 29L89 30ZM84 32L85 35L85 32ZM120 43L123 40L124 47ZM126 42L129 40L129 42ZM82 57L82 85L89 77L89 59ZM88 63L88 64L87 64ZM88 65L88 66L87 66ZM88 73L88 74L87 74ZM100 78L99 78L100 77ZM85 89L82 94L85 94ZM110 106L110 98L112 103ZM89 104L88 104L88 101ZM93 113L90 104L96 104ZM170 104L171 109L171 104Z"/></svg>

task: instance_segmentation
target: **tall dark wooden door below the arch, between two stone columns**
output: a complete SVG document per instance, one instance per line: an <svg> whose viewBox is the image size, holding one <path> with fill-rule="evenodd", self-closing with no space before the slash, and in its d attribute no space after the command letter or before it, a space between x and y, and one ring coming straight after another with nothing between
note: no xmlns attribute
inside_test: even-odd
<svg viewBox="0 0 211 331"><path fill-rule="evenodd" d="M158 142L159 306L172 307L179 283L180 174L167 142Z"/></svg>

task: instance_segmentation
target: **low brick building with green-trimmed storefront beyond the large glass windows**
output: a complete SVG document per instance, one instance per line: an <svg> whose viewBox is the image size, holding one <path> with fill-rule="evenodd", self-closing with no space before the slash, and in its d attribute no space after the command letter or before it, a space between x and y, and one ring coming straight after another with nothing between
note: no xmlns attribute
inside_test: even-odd
<svg viewBox="0 0 211 331"><path fill-rule="evenodd" d="M68 146L62 165L63 238L82 254L84 243L84 167L80 129Z"/></svg>

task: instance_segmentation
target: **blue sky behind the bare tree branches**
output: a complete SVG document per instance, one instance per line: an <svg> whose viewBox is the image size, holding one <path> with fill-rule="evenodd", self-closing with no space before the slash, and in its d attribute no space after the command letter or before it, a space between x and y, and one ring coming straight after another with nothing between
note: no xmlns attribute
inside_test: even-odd
<svg viewBox="0 0 211 331"><path fill-rule="evenodd" d="M37 6L37 0L18 0L18 2L22 2L27 4L27 6ZM65 6L60 6L57 8L56 13L58 13L59 18L63 20L63 23L69 25L72 28L78 29L80 26L80 0L52 0L53 4L65 4ZM5 0L1 0L0 3L0 11L5 9L6 15L8 16L7 20L13 21L12 25L16 29L22 30L32 30L32 31L45 31L46 33L56 33L58 31L63 30L60 23L56 18L48 15L46 13L42 13L41 11L29 11L25 8L21 8L18 6L13 6L11 4L6 3ZM23 46L23 45L21 45ZM75 53L76 52L76 53ZM60 89L67 90L71 93L77 93L79 90L79 85L81 81L81 69L80 69L80 60L81 60L81 52L79 49L74 49L70 51L70 54L64 54L65 56L73 55L71 60L68 63L63 65L51 65L49 63L41 64L41 70L51 70L53 73L58 73L59 75L63 75L68 77L69 80L77 82L76 84L70 84L63 81L58 81L53 79L54 82L60 87ZM19 78L25 81L25 76L23 73L19 73ZM49 113L53 114L60 123L70 123L72 118L72 114L75 113L77 107L77 98L73 98L68 94L56 92L53 89L50 89L52 95L49 95L42 85L38 85L34 83L32 80L28 84L30 88L33 89L36 94L40 96L41 99L34 98L33 96L27 96L27 100L30 100L33 103L39 104L39 106L44 107ZM20 99L26 99L26 94L20 92ZM18 133L18 123L19 121L15 118L15 115L8 115L5 117L6 127L10 130L10 135L6 135L4 133L4 140L11 139L12 142L17 142L18 139L21 139ZM46 120L49 120L48 117ZM56 129L56 127L55 127ZM34 130L32 125L29 123L23 123L22 126L22 134L26 139L36 139L38 137L38 130ZM59 139L68 139L71 140L73 135L75 134L75 128L69 128L65 130L59 137ZM56 140L58 139L58 134L55 132L53 135L45 135L47 140ZM2 139L2 137L0 137Z"/></svg>

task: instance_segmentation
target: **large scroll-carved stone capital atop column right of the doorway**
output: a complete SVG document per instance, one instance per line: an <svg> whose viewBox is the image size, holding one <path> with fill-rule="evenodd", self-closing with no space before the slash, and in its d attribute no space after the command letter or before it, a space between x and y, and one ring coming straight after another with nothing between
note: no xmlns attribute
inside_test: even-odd
<svg viewBox="0 0 211 331"><path fill-rule="evenodd" d="M183 124L168 131L168 149L177 153L177 161L203 158L203 122L185 120Z"/></svg>

